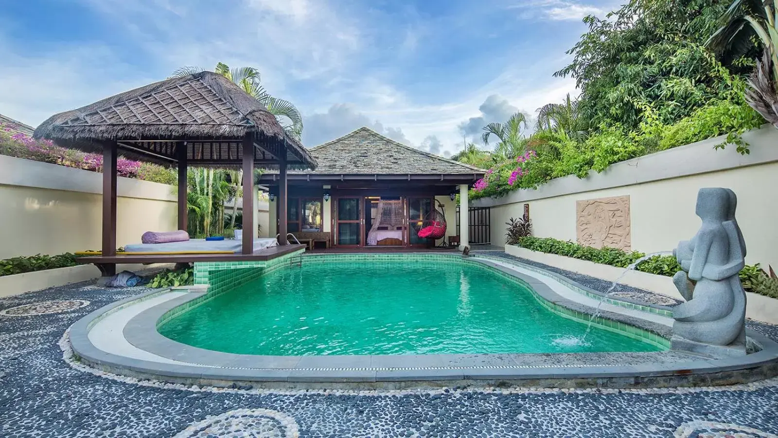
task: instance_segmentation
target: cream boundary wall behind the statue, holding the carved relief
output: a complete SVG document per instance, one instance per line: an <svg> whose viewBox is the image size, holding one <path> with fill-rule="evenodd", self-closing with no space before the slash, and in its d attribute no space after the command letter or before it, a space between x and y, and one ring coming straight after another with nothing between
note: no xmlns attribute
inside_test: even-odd
<svg viewBox="0 0 778 438"><path fill-rule="evenodd" d="M699 228L697 191L727 187L738 195L736 217L748 247L747 263L778 267L778 131L747 132L751 154L734 146L714 150L724 137L704 140L614 164L587 178L557 178L538 189L521 189L498 199L476 200L492 207L492 243L505 242L504 223L530 204L534 235L576 241L576 201L629 195L632 249L669 251Z"/></svg>

